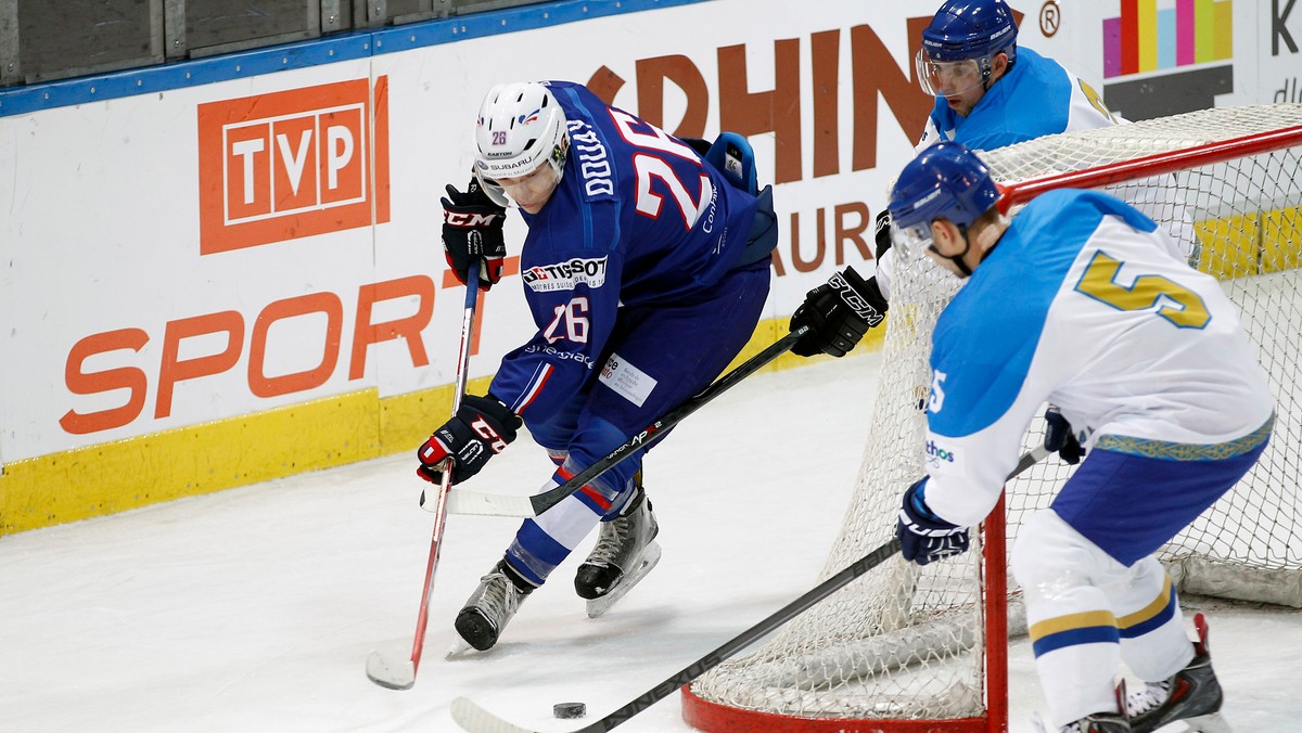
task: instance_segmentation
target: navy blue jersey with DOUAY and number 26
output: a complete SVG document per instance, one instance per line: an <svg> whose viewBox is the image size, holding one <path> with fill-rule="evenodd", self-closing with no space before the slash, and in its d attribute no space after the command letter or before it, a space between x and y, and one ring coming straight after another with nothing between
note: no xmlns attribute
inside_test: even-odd
<svg viewBox="0 0 1302 733"><path fill-rule="evenodd" d="M600 368L621 305L703 298L738 266L758 199L682 141L582 85L548 82L570 148L547 204L521 212L519 268L538 332L503 358L490 392L549 415Z"/></svg>

